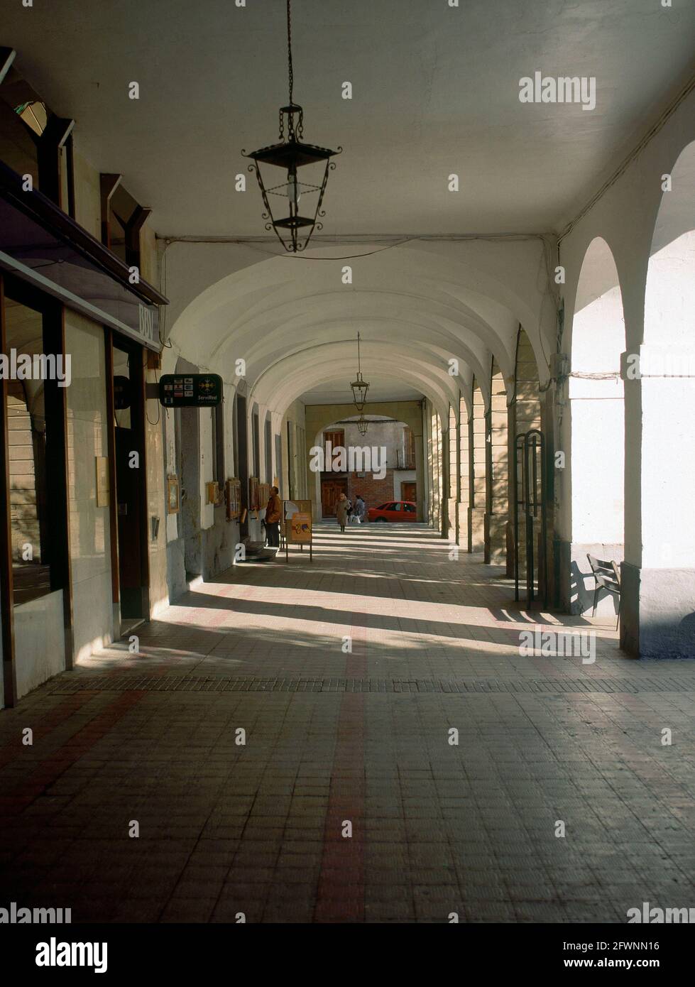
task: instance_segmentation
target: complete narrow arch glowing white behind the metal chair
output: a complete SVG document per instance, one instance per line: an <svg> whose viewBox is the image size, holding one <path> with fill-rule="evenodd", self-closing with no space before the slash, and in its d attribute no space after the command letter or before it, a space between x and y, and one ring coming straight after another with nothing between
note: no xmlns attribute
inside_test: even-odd
<svg viewBox="0 0 695 987"><path fill-rule="evenodd" d="M584 255L572 330L569 379L572 485L572 613L591 612L595 580L587 555L620 564L624 554L625 397L620 355L625 320L618 271L605 240ZM615 613L602 591L597 613Z"/></svg>

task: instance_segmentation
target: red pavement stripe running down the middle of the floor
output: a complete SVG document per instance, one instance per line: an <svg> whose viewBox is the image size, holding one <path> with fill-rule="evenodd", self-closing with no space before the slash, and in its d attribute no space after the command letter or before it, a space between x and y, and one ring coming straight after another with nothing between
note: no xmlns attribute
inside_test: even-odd
<svg viewBox="0 0 695 987"><path fill-rule="evenodd" d="M366 614L359 615L368 622ZM346 677L364 678L367 671L367 629L351 627L352 652L347 654ZM345 820L351 837L343 835ZM314 920L364 921L364 696L344 693L338 717L333 756L324 849Z"/></svg>

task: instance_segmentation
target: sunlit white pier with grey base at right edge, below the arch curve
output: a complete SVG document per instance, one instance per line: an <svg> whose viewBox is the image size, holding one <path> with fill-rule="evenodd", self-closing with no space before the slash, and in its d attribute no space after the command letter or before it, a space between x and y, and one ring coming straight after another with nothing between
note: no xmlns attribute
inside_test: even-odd
<svg viewBox="0 0 695 987"><path fill-rule="evenodd" d="M624 353L621 367L626 461L620 643L636 656L693 657L695 350L642 345L639 375L636 355Z"/></svg>

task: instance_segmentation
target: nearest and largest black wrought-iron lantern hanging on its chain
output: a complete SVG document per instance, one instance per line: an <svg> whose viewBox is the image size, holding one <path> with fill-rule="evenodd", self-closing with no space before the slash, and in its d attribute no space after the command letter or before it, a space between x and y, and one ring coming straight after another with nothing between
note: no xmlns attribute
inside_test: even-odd
<svg viewBox="0 0 695 987"><path fill-rule="evenodd" d="M331 161L331 158L334 154L340 154L343 148L339 147L337 151L331 151L327 147L317 147L316 144L304 144L302 142L302 136L304 133L304 111L292 99L292 86L294 79L292 74L292 33L289 5L290 0L287 0L287 68L289 76L289 101L286 107L280 107L280 142L278 144L270 144L269 147L262 147L258 151L252 151L251 154L247 154L244 150L242 150L241 153L245 158L252 158L254 161L253 165L249 165L249 171L255 171L256 178L259 181L259 187L261 189L261 194L263 195L263 202L266 206L266 212L263 213L263 218L268 220L266 223L266 229L274 230L277 239L282 244L284 249L290 254L296 254L305 249L306 245L311 240L311 235L315 229L320 230L323 228L323 224L317 222L317 220L319 216L326 215L325 210L322 210L321 208L321 203L323 201L326 184L328 182L329 170L333 170L336 167L336 163ZM287 117L286 134L285 116ZM320 185L312 185L309 182L300 182L297 178L297 169L303 168L305 165L315 165L319 162L326 163L323 171L323 177L321 177L320 174L317 176ZM267 189L263 180L263 175L261 174L260 166L262 164L275 165L277 168L282 168L287 173L285 181L280 185L273 185ZM301 215L299 212L300 197L316 194L317 192L318 199L313 215ZM270 195L278 195L282 200L284 200L289 210L289 214L287 216L281 217L280 219L275 219L272 212L272 207L270 205ZM276 210L279 209L279 207L279 203L277 203ZM311 210L308 211L311 212Z"/></svg>

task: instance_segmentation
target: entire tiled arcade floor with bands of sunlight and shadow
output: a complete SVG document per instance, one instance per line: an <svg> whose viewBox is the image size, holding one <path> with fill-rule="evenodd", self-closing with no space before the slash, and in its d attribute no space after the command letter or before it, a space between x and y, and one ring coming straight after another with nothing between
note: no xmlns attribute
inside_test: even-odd
<svg viewBox="0 0 695 987"><path fill-rule="evenodd" d="M0 712L0 906L76 922L693 906L695 663L628 659L609 619L525 614L500 569L447 551L420 526L320 527L313 565L230 570L134 632L137 653L120 643ZM522 656L536 620L594 632L595 662Z"/></svg>

